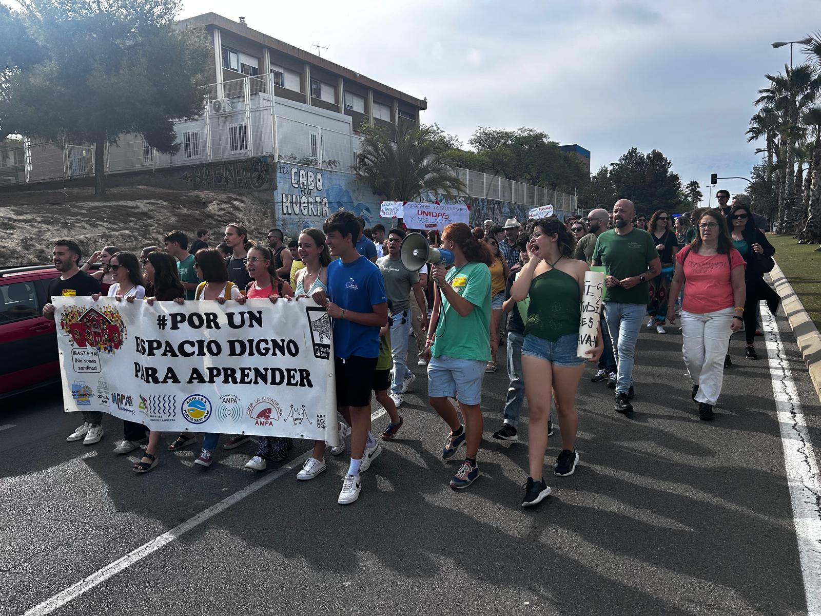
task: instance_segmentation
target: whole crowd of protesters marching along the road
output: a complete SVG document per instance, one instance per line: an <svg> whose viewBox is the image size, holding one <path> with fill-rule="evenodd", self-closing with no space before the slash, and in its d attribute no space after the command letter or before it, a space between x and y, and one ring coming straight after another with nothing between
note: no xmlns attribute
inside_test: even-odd
<svg viewBox="0 0 821 616"><path fill-rule="evenodd" d="M504 345L507 396L503 423L493 438L518 439L526 398L529 473L522 505L529 507L550 494L543 467L553 435L551 407L562 439L553 475L576 471L576 393L586 363L598 365L593 382L607 382L615 390L614 410L634 412L633 365L645 318L647 329L659 334L680 319L682 358L704 421L715 417L723 371L732 365L732 333L743 329L745 357L758 358L759 301L773 312L780 301L764 281L774 249L764 235L766 220L751 211L749 197L736 195L731 203L727 191L717 196L718 208L678 216L664 209L637 214L630 200L621 199L612 208L563 221L555 216L521 223L508 218L502 224L488 219L472 229L452 223L425 236L431 246L452 253L452 265L426 264L420 271L406 269L400 259L405 228L365 228L362 218L346 211L289 242L274 228L255 243L244 225L230 223L215 247L209 246L207 229L198 229L190 246L185 232L172 230L163 236L163 247L146 246L137 256L105 246L85 264L76 242L57 240L53 263L62 275L53 279L50 293L149 305L312 298L333 322L334 425L340 444L316 441L296 477L314 479L327 469L326 453L338 456L349 447L337 499L341 504L359 498L360 473L382 452L371 431L372 393L389 416L381 440L396 438L405 423L399 409L416 379L408 367L410 338L415 338L417 365L426 366L429 404L447 424L441 457L450 461L465 448L450 485L461 490L472 484L480 475L483 378L498 370ZM580 301L590 269L604 275L603 309L594 348L580 357ZM44 307L44 315L53 318L53 305ZM84 411L83 424L67 441L98 443L102 419L102 413ZM157 466L160 437L140 423L123 421L122 439L113 451L129 453L147 442L133 465L144 473ZM220 434L185 432L167 449L189 447L200 437L195 464L209 467ZM222 447L249 440L245 434L227 435ZM287 459L292 446L291 439L259 437L245 467L263 471L268 462Z"/></svg>

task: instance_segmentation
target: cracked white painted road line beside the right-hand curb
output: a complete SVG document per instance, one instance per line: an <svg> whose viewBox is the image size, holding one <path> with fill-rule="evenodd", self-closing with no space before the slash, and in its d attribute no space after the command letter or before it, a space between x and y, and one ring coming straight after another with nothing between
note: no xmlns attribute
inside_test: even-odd
<svg viewBox="0 0 821 616"><path fill-rule="evenodd" d="M792 518L796 526L798 555L804 577L807 614L821 614L821 515L819 515L819 469L813 444L804 419L804 411L792 379L792 371L783 352L781 334L775 318L762 307L773 396L781 429L787 486L790 489ZM766 316L764 316L766 315Z"/></svg>

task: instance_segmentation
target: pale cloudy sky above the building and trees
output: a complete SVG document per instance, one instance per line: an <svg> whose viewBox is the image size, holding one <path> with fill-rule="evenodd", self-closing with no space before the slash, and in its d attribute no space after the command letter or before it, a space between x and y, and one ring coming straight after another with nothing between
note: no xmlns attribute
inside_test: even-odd
<svg viewBox="0 0 821 616"><path fill-rule="evenodd" d="M711 172L749 176L757 160L744 135L752 101L790 60L770 44L821 30L818 0L188 0L181 17L208 11L327 46L323 57L427 97L422 122L465 142L477 126L531 126L589 149L594 170L655 148L703 186Z"/></svg>

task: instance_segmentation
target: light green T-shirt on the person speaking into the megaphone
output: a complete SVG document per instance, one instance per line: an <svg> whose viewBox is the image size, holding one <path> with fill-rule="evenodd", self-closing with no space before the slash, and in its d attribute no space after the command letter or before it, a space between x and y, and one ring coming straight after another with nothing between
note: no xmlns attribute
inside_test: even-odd
<svg viewBox="0 0 821 616"><path fill-rule="evenodd" d="M443 293L431 354L490 361L490 269L484 263L467 263L449 269L445 280L474 309L460 316Z"/></svg>

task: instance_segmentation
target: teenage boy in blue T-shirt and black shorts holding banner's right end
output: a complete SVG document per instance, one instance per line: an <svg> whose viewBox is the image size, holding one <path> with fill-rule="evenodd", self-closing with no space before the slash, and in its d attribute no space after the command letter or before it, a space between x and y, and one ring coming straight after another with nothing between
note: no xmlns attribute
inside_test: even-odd
<svg viewBox="0 0 821 616"><path fill-rule="evenodd" d="M356 251L361 228L354 214L332 214L324 231L326 246L339 259L328 265L328 290L317 289L312 297L333 319L337 411L351 425L351 466L337 499L346 505L359 498L360 472L382 453L370 432L370 393L379 358L379 329L388 324L388 297L378 267ZM325 444L317 441L297 479L313 479L325 470L324 451Z"/></svg>

